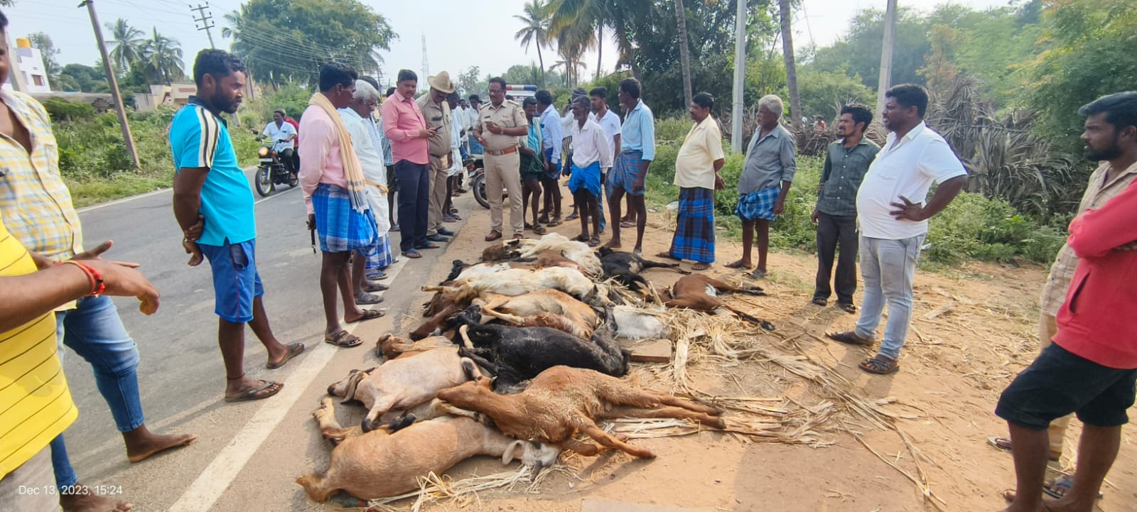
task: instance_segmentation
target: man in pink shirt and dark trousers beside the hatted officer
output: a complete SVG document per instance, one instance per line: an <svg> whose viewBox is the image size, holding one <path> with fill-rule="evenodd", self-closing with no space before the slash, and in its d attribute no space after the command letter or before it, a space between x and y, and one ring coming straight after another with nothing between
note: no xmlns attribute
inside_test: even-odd
<svg viewBox="0 0 1137 512"><path fill-rule="evenodd" d="M398 90L383 102L383 134L391 141L391 159L399 184L399 250L412 259L422 258L420 249L438 249L426 240L430 216L430 143L433 129L426 128L415 91L418 75L399 70Z"/></svg>

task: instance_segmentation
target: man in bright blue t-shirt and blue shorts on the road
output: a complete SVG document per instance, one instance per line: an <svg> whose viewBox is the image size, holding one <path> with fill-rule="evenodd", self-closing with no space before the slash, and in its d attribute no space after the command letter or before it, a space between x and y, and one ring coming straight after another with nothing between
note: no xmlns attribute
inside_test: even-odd
<svg viewBox="0 0 1137 512"><path fill-rule="evenodd" d="M217 337L225 361L225 401L260 400L283 384L244 376L244 324L268 351L267 368L284 366L304 344L282 345L268 327L264 287L256 265L257 223L252 191L229 139L222 112L234 114L244 90L244 64L221 50L202 50L193 62L198 93L174 115L169 146L174 153L174 217L190 266L202 255L213 269Z"/></svg>

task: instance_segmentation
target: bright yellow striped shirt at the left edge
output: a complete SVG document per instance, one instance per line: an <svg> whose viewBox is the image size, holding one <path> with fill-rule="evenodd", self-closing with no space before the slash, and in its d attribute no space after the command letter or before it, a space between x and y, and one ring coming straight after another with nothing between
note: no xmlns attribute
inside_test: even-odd
<svg viewBox="0 0 1137 512"><path fill-rule="evenodd" d="M0 276L35 271L0 219ZM56 353L56 314L0 333L0 478L19 468L78 417Z"/></svg>

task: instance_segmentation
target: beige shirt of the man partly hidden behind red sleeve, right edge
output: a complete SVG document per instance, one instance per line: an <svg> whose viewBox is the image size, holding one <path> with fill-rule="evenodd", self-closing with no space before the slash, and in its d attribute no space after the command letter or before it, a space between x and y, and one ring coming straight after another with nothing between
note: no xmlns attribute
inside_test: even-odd
<svg viewBox="0 0 1137 512"><path fill-rule="evenodd" d="M1102 208L1102 204L1105 204L1106 201L1113 199L1114 195L1128 188L1134 181L1137 181L1137 163L1129 166L1129 168L1106 183L1105 177L1109 171L1110 163L1102 162L1097 167L1097 170L1094 171L1094 175L1089 177L1089 185L1086 186L1086 193L1082 194L1081 203L1078 205L1079 215L1089 209ZM1077 268L1078 255L1073 253L1073 250L1069 245L1062 245L1062 250L1059 251L1054 265L1051 266L1051 275L1046 277L1046 285L1043 287L1043 314L1049 314L1051 317L1059 314L1062 303L1065 302L1067 288L1070 287L1070 280L1073 279L1073 271Z"/></svg>

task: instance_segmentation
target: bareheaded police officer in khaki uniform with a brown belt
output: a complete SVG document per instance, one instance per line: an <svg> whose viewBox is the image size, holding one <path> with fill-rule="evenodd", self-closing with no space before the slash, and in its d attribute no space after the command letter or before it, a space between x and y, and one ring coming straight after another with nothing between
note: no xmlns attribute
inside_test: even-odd
<svg viewBox="0 0 1137 512"><path fill-rule="evenodd" d="M481 108L474 137L485 146L485 194L490 200L490 234L487 242L501 237L501 187L509 193L509 227L514 238L524 238L521 198L518 137L529 135L525 109L505 99L505 79L490 78L490 102Z"/></svg>

